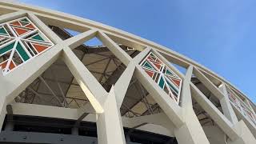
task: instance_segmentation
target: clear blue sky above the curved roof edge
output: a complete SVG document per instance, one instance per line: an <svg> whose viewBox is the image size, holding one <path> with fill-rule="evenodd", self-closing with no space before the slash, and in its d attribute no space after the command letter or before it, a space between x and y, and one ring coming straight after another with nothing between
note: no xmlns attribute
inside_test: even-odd
<svg viewBox="0 0 256 144"><path fill-rule="evenodd" d="M20 0L137 34L226 78L256 102L254 0Z"/></svg>

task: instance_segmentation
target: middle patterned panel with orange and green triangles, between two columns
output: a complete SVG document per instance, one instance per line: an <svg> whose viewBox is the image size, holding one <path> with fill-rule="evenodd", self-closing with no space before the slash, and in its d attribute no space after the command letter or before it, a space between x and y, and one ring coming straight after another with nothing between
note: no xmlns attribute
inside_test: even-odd
<svg viewBox="0 0 256 144"><path fill-rule="evenodd" d="M150 52L140 64L146 74L158 83L170 98L179 102L180 91L182 87L182 78L179 78L173 70L170 70L155 54Z"/></svg>

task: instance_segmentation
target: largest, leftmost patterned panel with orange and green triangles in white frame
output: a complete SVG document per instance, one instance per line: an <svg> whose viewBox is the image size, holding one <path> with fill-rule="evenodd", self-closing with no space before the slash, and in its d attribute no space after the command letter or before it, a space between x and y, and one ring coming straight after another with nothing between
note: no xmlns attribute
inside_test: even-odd
<svg viewBox="0 0 256 144"><path fill-rule="evenodd" d="M30 21L29 18L0 24L0 67L9 73L23 63L35 58L54 43Z"/></svg>

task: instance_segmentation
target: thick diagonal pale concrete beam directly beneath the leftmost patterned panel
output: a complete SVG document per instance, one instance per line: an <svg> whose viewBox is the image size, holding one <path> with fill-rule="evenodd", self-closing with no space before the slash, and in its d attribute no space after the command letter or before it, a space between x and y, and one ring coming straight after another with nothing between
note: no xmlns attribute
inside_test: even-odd
<svg viewBox="0 0 256 144"><path fill-rule="evenodd" d="M38 55L29 62L6 74L6 81L11 86L6 89L6 102L10 103L18 94L25 90L30 83L34 82L47 68L49 68L60 56L62 51L61 45L55 45L43 54Z"/></svg>

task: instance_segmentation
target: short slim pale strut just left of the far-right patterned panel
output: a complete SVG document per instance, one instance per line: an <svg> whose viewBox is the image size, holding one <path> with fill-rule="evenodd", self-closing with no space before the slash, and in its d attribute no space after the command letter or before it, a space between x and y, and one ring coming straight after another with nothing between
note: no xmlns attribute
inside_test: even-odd
<svg viewBox="0 0 256 144"><path fill-rule="evenodd" d="M224 98L220 99L219 102L221 103L222 106L222 111L223 114L230 120L232 123L237 123L238 118L234 113L234 110L230 104L229 96L226 91L226 85L225 83L222 83L222 85L219 87L219 89L222 91L224 94Z"/></svg>

